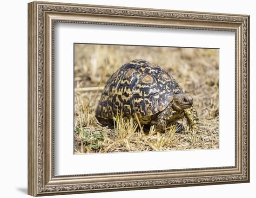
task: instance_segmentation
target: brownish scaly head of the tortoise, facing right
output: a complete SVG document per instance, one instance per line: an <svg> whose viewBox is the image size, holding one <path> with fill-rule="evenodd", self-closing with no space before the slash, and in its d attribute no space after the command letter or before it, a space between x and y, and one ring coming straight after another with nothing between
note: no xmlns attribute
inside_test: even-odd
<svg viewBox="0 0 256 198"><path fill-rule="evenodd" d="M175 94L172 103L174 110L181 111L192 106L193 98L188 94Z"/></svg>

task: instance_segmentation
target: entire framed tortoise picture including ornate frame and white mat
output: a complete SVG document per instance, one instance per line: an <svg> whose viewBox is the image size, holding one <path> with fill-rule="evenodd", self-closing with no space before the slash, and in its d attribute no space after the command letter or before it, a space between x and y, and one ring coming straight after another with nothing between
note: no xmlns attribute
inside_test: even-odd
<svg viewBox="0 0 256 198"><path fill-rule="evenodd" d="M28 4L28 194L249 182L249 16Z"/></svg>

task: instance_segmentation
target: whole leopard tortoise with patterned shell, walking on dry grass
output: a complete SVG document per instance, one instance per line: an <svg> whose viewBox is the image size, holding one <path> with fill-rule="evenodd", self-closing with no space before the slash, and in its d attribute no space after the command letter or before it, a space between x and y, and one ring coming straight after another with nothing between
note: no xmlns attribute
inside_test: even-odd
<svg viewBox="0 0 256 198"><path fill-rule="evenodd" d="M113 118L140 121L164 129L184 116L189 128L198 123L192 96L185 94L175 79L157 64L135 59L121 66L108 79L96 107L99 122L111 125Z"/></svg>

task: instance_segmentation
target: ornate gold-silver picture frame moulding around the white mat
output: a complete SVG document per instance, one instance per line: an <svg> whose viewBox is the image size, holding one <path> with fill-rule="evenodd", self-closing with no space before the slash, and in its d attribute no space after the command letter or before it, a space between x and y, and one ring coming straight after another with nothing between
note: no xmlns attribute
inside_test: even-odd
<svg viewBox="0 0 256 198"><path fill-rule="evenodd" d="M54 22L233 31L235 166L54 176ZM28 194L32 196L249 182L249 16L28 4Z"/></svg>

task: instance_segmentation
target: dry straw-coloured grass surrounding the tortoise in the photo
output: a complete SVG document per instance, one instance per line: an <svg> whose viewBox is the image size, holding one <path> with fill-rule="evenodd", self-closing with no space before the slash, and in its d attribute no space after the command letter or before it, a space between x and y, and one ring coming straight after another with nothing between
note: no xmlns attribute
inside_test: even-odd
<svg viewBox="0 0 256 198"><path fill-rule="evenodd" d="M218 50L118 45L75 45L75 153L208 149L219 145ZM159 64L194 98L198 131L164 132L154 126L115 118L115 126L102 127L94 116L101 89L121 65L142 58ZM89 89L88 89L89 88Z"/></svg>

